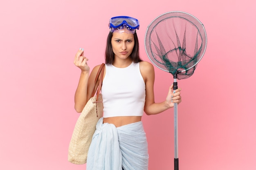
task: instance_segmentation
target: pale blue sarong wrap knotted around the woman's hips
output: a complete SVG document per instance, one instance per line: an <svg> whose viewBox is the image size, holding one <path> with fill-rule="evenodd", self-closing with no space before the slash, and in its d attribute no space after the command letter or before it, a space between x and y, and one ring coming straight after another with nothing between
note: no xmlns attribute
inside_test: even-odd
<svg viewBox="0 0 256 170"><path fill-rule="evenodd" d="M148 144L142 122L116 128L99 119L86 170L148 170Z"/></svg>

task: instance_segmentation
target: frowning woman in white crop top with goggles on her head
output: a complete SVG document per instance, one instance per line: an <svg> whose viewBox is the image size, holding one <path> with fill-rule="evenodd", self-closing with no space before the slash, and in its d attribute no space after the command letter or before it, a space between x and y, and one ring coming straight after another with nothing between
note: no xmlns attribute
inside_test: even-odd
<svg viewBox="0 0 256 170"><path fill-rule="evenodd" d="M136 29L139 21L127 16L110 19L106 66L101 94L104 114L99 119L88 151L87 170L148 170L148 145L141 122L145 112L155 115L180 103L181 89L168 89L166 99L154 101L153 65L139 57ZM99 66L90 73L88 58L79 49L74 64L81 69L75 93L75 110L90 99Z"/></svg>

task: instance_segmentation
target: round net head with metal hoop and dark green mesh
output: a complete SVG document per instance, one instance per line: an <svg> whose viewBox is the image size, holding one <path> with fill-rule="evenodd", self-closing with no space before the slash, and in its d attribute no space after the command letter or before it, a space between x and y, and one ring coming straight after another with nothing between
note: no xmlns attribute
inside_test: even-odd
<svg viewBox="0 0 256 170"><path fill-rule="evenodd" d="M193 75L206 49L202 23L184 12L169 12L148 26L145 48L151 62L160 69L177 74L177 79Z"/></svg>

